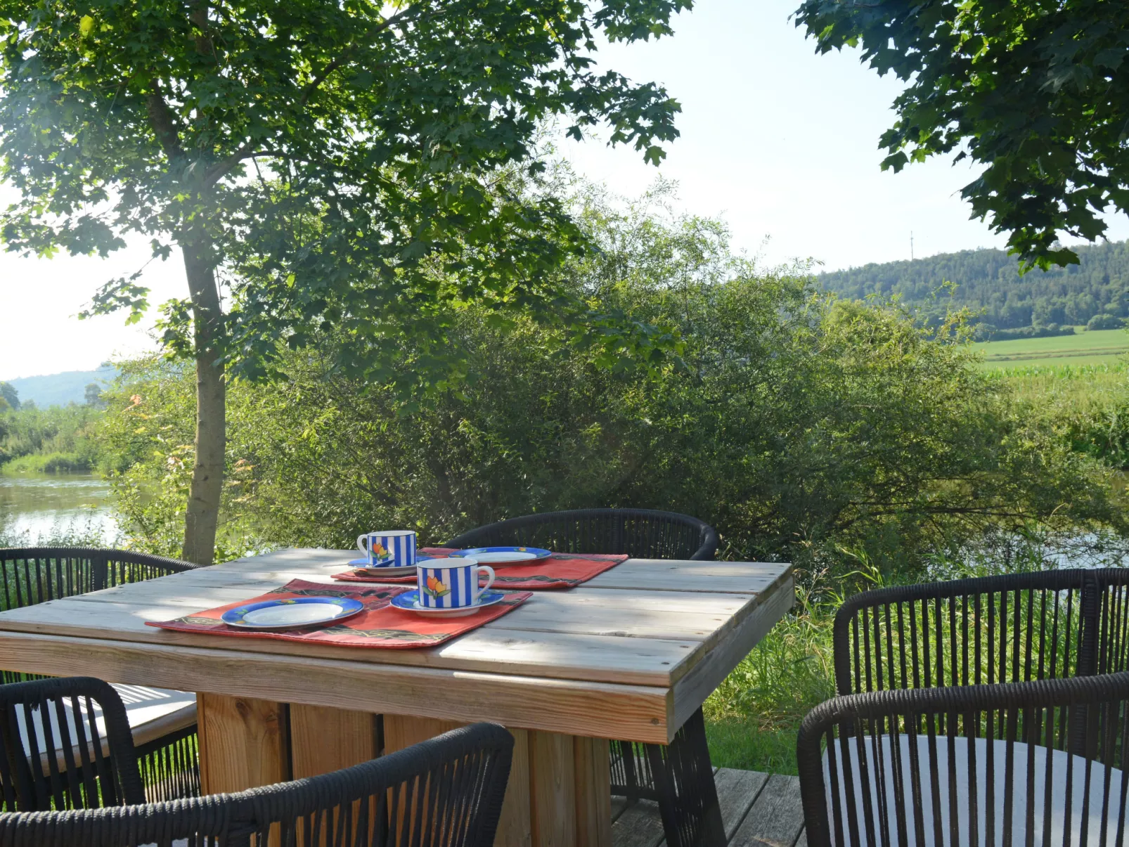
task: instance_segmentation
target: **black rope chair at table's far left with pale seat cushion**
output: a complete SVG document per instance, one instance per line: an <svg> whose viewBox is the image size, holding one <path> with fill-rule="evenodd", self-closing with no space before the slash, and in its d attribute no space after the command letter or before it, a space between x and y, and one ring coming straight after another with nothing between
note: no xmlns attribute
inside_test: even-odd
<svg viewBox="0 0 1129 847"><path fill-rule="evenodd" d="M128 550L33 547L0 549L0 610L35 605L199 566ZM0 682L35 679L0 671ZM114 686L126 704L149 801L200 793L195 699L143 686ZM145 708L143 723L133 719ZM151 716L157 714L156 718Z"/></svg>

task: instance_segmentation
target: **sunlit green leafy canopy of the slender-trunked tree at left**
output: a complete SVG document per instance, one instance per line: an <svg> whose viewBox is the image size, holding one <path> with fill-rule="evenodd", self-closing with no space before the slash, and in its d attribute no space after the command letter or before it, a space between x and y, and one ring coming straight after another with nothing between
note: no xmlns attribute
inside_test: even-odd
<svg viewBox="0 0 1129 847"><path fill-rule="evenodd" d="M2 0L0 175L21 195L2 237L40 254L104 255L129 233L161 257L180 245L190 287L194 267L228 272L207 346L251 370L329 321L364 372L390 318L436 329L438 296L559 306L536 280L575 228L490 175L528 161L558 115L576 137L606 120L657 163L677 104L589 54L598 32L669 32L690 2ZM95 308L135 320L147 294L114 280ZM208 311L169 304L166 340L190 352Z"/></svg>

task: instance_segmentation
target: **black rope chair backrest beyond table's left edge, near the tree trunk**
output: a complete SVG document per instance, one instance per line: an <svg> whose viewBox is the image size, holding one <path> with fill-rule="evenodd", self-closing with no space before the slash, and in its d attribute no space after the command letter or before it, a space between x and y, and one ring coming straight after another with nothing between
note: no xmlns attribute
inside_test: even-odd
<svg viewBox="0 0 1129 847"><path fill-rule="evenodd" d="M0 548L0 611L192 570L178 559L85 547Z"/></svg>

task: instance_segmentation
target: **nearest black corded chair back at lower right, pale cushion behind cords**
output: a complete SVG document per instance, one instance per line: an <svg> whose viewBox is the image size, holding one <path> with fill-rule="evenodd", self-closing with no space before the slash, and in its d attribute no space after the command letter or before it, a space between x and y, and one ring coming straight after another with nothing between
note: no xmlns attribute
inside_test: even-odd
<svg viewBox="0 0 1129 847"><path fill-rule="evenodd" d="M1124 842L1129 673L838 697L797 742L809 847Z"/></svg>

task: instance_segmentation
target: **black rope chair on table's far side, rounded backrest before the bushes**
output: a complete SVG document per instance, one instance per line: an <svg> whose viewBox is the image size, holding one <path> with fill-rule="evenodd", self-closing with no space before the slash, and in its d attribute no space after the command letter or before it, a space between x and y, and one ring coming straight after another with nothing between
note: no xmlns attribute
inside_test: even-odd
<svg viewBox="0 0 1129 847"><path fill-rule="evenodd" d="M555 552L627 553L637 559L710 560L718 538L690 515L654 509L574 509L500 521L444 547L522 544ZM611 742L612 794L658 803L668 847L725 844L717 788L698 709L669 746Z"/></svg>

